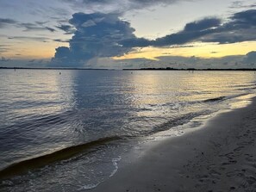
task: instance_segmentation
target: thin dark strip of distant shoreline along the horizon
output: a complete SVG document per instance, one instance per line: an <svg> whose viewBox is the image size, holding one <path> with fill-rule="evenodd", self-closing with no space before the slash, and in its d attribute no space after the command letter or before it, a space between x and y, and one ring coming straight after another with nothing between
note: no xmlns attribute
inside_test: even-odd
<svg viewBox="0 0 256 192"><path fill-rule="evenodd" d="M238 69L195 69L195 68L138 68L138 69L95 69L95 68L58 68L58 67L0 67L0 70L97 70L97 71L256 71L256 68Z"/></svg>

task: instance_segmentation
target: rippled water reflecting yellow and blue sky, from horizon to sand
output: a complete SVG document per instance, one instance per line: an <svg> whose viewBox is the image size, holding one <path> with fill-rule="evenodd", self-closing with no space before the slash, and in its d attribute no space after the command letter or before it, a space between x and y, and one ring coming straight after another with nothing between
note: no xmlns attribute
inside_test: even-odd
<svg viewBox="0 0 256 192"><path fill-rule="evenodd" d="M1 70L0 81L0 191L91 189L134 146L256 89L253 71Z"/></svg>

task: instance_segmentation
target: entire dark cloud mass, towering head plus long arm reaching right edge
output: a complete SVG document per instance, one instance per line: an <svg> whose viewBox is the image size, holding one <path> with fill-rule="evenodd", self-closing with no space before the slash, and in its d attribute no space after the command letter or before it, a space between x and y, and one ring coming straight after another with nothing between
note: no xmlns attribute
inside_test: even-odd
<svg viewBox="0 0 256 192"><path fill-rule="evenodd" d="M255 9L235 13L228 18L228 22L222 22L219 18L189 22L178 33L156 40L137 38L130 23L122 21L119 16L103 13L72 15L69 25L75 28L74 35L69 40L69 47L61 46L56 49L52 65L81 66L94 58L122 56L135 47L186 46L187 43L196 41L224 44L256 40ZM69 27L61 28L69 30Z"/></svg>

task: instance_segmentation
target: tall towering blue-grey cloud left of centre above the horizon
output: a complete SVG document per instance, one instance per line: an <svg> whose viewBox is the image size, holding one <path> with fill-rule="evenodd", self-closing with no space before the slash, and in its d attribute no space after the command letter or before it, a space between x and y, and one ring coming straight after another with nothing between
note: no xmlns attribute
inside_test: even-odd
<svg viewBox="0 0 256 192"><path fill-rule="evenodd" d="M135 38L134 28L118 16L103 13L72 15L69 23L76 31L69 40L69 47L56 48L52 65L81 66L93 58L121 56L131 51L132 47L122 46L120 42Z"/></svg>

